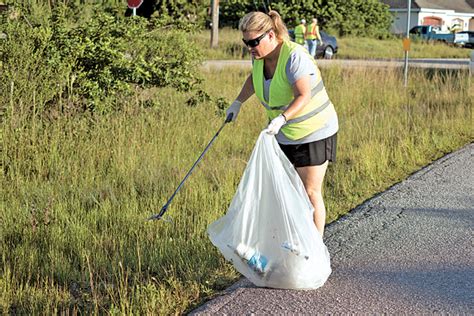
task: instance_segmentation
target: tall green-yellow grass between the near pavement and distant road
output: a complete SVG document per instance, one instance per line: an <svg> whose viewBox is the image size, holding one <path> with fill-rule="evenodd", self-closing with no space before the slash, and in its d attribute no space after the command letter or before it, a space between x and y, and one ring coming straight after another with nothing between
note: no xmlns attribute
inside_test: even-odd
<svg viewBox="0 0 474 316"><path fill-rule="evenodd" d="M323 69L340 119L326 178L328 221L474 139L465 71ZM248 71L205 73L231 100ZM161 89L109 115L31 116L25 92L1 121L0 312L182 314L239 275L211 245L265 126L255 99L226 126L174 199L146 222L222 124L206 103Z"/></svg>

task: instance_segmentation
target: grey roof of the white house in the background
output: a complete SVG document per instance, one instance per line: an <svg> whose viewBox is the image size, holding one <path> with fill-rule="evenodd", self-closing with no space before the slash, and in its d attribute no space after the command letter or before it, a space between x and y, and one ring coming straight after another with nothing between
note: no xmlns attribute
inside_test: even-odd
<svg viewBox="0 0 474 316"><path fill-rule="evenodd" d="M382 0L391 9L406 9L408 0ZM454 10L459 13L474 13L474 0L412 0L412 9Z"/></svg>

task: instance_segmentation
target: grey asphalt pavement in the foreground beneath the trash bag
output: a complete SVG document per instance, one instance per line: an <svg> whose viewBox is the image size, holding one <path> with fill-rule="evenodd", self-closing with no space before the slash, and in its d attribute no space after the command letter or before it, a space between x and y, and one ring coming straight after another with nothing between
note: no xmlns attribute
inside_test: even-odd
<svg viewBox="0 0 474 316"><path fill-rule="evenodd" d="M471 143L328 225L333 273L323 287L241 279L191 314L473 315L473 156Z"/></svg>

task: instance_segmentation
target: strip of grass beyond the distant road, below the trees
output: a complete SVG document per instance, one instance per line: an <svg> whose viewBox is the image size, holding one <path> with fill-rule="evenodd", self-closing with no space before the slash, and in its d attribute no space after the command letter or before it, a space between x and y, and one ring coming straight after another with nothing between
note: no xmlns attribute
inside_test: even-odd
<svg viewBox="0 0 474 316"><path fill-rule="evenodd" d="M211 49L210 31L200 32L195 45L205 52L207 59L248 59L247 49L243 46L239 31L223 28L219 31L219 46ZM338 53L336 58L344 59L397 59L404 58L401 39L379 40L360 37L337 37ZM469 58L470 49L458 48L442 43L412 41L410 58Z"/></svg>

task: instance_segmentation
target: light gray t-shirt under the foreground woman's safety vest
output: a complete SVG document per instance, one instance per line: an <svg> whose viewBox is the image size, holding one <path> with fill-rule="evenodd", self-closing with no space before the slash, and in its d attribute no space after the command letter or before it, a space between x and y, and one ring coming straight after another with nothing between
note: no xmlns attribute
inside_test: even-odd
<svg viewBox="0 0 474 316"><path fill-rule="evenodd" d="M314 61L311 60L311 56L309 56L305 51L303 51L303 47L301 49L295 49L291 52L290 58L286 64L286 77L291 85L294 85L296 81L301 79L303 76L310 76L310 83L311 89L316 87L317 82L319 81L317 78L318 71L316 69L316 65ZM271 79L265 80L263 85L263 95L265 100L269 99L269 91L270 91L270 83L272 82ZM276 135L277 141L280 144L284 145L297 145L297 144L305 144L314 142L317 140L321 140L336 134L339 129L339 123L337 120L337 115L334 113L332 117L328 120L327 124L317 130L314 133L309 134L298 140L291 140L287 138L281 131Z"/></svg>

